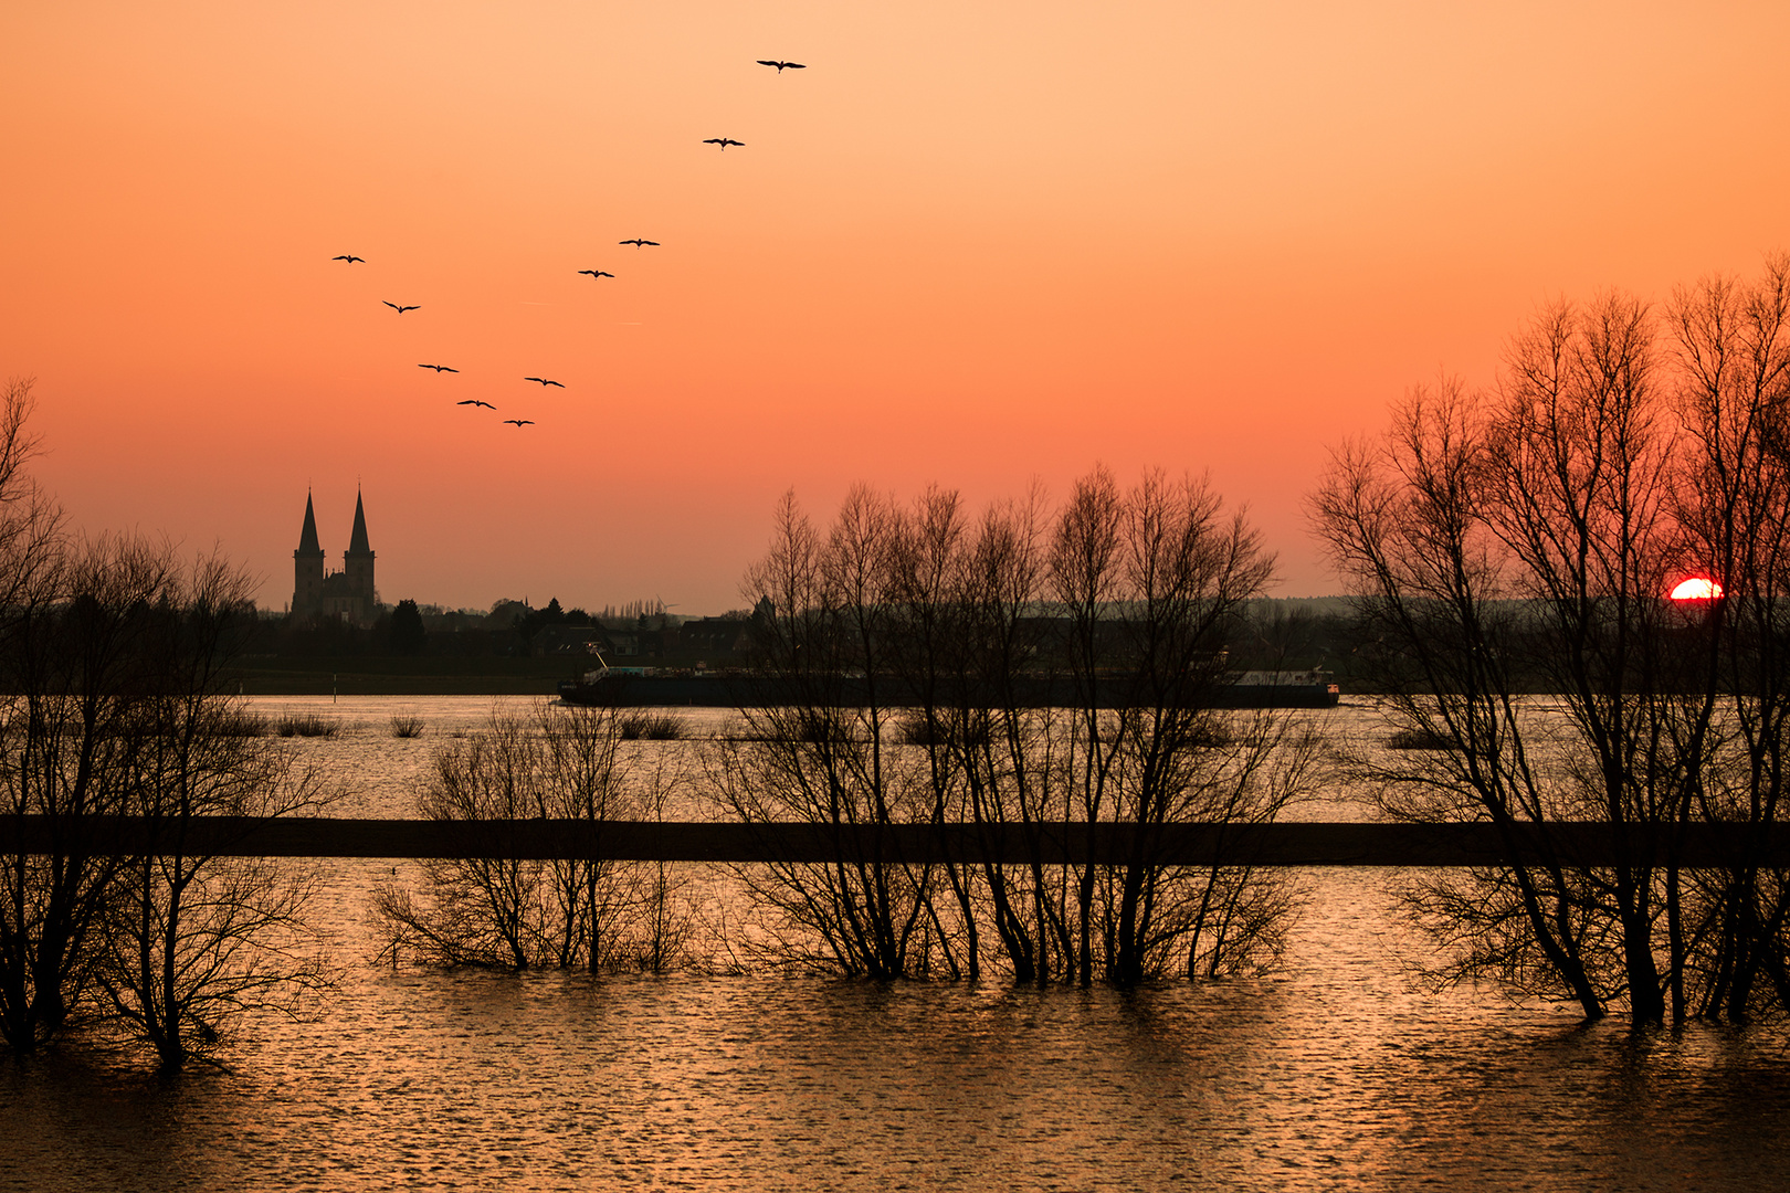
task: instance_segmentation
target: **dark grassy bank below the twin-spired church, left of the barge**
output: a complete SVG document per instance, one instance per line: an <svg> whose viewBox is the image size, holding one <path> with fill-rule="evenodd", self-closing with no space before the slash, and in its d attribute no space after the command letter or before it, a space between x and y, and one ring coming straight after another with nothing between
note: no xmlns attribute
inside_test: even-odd
<svg viewBox="0 0 1790 1193"><path fill-rule="evenodd" d="M245 658L233 690L243 696L553 696L571 678L553 658Z"/></svg>

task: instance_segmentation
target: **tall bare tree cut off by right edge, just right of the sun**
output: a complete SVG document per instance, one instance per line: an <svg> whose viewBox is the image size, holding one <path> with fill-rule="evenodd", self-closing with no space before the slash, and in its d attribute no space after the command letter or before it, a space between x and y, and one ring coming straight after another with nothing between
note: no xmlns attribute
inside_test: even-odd
<svg viewBox="0 0 1790 1193"><path fill-rule="evenodd" d="M1693 451L1675 494L1686 562L1720 578L1724 596L1688 633L1708 653L1711 766L1695 814L1743 823L1743 851L1674 891L1672 1012L1747 1018L1790 1009L1785 937L1790 882L1761 866L1758 842L1779 819L1790 751L1790 259L1756 283L1709 277L1666 308L1677 363L1675 408ZM1692 948L1699 935L1702 946ZM1756 991L1769 982L1772 998Z"/></svg>

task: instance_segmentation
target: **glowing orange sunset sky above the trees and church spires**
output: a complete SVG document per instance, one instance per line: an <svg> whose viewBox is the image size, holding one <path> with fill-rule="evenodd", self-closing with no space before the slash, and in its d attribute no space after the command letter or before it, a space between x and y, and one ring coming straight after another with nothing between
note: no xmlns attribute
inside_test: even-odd
<svg viewBox="0 0 1790 1193"><path fill-rule="evenodd" d="M11 4L0 376L75 524L274 608L306 487L335 567L363 485L387 601L705 613L789 487L1095 461L1210 470L1330 592L1303 494L1407 385L1790 249L1786 45L1632 0Z"/></svg>

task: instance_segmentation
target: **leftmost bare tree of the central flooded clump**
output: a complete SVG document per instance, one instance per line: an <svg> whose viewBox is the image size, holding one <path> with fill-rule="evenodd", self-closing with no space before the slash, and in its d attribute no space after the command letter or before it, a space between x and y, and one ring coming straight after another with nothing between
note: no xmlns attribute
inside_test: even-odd
<svg viewBox="0 0 1790 1193"><path fill-rule="evenodd" d="M768 610L757 619L759 651L777 692L743 712L745 730L718 742L709 766L729 816L831 830L825 864L739 871L773 909L771 952L875 978L963 971L961 923L934 898L938 867L890 853L875 832L925 823L933 810L915 760L886 740L902 698L890 633L897 524L893 503L856 488L822 538L784 497L771 549L743 585Z"/></svg>

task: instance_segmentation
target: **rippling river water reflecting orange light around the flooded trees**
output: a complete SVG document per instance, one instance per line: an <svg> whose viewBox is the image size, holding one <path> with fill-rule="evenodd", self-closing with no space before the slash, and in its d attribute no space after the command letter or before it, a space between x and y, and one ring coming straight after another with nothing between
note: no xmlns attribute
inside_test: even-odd
<svg viewBox="0 0 1790 1193"><path fill-rule="evenodd" d="M490 701L256 705L338 717L301 751L353 787L340 814L394 816ZM1121 994L381 968L390 871L326 864L340 984L243 1025L229 1071L159 1080L93 1041L0 1061L0 1188L1790 1188L1781 1028L1425 993L1396 875L1303 875L1269 977Z"/></svg>

